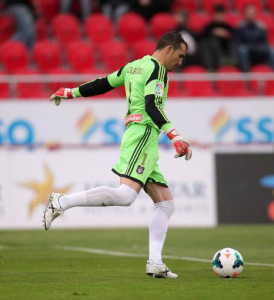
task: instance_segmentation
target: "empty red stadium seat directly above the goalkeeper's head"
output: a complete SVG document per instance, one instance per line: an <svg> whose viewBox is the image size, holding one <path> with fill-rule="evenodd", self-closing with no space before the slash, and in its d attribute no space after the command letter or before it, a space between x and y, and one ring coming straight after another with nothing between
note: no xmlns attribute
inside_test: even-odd
<svg viewBox="0 0 274 300"><path fill-rule="evenodd" d="M159 39L164 33L176 29L176 21L169 13L157 13L151 20L150 25L153 35Z"/></svg>

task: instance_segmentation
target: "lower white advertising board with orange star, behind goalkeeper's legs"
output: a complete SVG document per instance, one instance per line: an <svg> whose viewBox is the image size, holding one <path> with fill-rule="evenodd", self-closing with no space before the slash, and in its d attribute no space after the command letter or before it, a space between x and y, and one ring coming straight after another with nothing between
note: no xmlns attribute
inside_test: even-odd
<svg viewBox="0 0 274 300"><path fill-rule="evenodd" d="M159 165L173 192L176 211L171 226L216 225L214 159L195 150L193 159L174 159L161 149ZM41 228L47 196L96 186L118 186L110 169L118 147L96 150L0 150L0 228ZM77 207L54 221L53 228L148 226L154 205L142 190L130 207Z"/></svg>

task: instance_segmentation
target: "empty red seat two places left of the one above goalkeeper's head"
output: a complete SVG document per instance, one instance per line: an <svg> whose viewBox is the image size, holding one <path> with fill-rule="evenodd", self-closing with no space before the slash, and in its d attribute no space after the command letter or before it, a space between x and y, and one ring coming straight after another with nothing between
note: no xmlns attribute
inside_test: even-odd
<svg viewBox="0 0 274 300"><path fill-rule="evenodd" d="M94 42L100 44L113 39L113 25L111 20L103 14L92 14L85 20L86 35Z"/></svg>

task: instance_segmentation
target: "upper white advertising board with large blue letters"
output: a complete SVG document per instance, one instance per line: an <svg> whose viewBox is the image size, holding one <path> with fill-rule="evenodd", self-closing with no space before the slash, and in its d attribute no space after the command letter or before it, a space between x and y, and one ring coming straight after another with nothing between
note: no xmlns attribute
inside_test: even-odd
<svg viewBox="0 0 274 300"><path fill-rule="evenodd" d="M16 143L119 144L125 99L0 103L0 145ZM197 143L273 143L274 98L172 99L166 114ZM161 143L169 143L162 135Z"/></svg>

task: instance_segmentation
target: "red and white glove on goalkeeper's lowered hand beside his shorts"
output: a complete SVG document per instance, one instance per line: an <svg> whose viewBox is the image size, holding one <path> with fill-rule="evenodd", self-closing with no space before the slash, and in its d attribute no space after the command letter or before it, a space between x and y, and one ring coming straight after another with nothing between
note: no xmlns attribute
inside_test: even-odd
<svg viewBox="0 0 274 300"><path fill-rule="evenodd" d="M188 142L184 141L174 127L166 131L167 137L173 143L175 151L175 158L185 156L185 160L190 160L192 156L192 150Z"/></svg>

